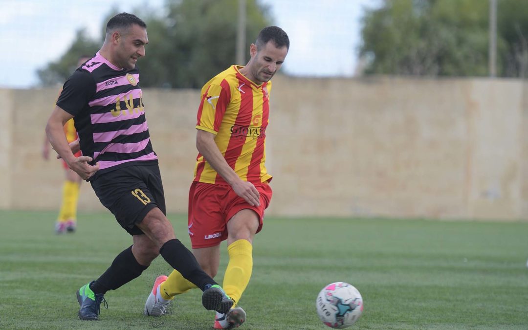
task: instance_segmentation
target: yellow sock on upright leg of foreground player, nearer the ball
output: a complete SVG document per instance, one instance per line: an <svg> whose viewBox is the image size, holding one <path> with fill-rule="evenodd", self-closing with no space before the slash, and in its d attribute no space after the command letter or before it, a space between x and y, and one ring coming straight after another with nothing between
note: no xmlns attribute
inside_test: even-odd
<svg viewBox="0 0 528 330"><path fill-rule="evenodd" d="M237 305L253 271L253 247L248 240L234 241L228 246L229 263L225 269L223 289Z"/></svg>

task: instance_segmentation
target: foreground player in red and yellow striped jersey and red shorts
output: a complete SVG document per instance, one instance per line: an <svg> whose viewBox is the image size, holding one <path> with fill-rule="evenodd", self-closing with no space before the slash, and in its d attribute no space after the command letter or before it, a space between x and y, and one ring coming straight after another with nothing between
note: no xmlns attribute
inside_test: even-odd
<svg viewBox="0 0 528 330"><path fill-rule="evenodd" d="M196 259L212 277L218 272L220 243L228 241L223 288L234 304L227 314L217 313L215 328L238 327L246 319L244 310L235 306L251 277L252 241L271 200L271 175L265 166L270 79L288 49L282 29L265 27L251 44L246 67L233 65L202 88L188 232ZM191 288L195 286L174 270L155 284L151 295L156 299L147 300L145 309L149 315L162 315L168 301Z"/></svg>

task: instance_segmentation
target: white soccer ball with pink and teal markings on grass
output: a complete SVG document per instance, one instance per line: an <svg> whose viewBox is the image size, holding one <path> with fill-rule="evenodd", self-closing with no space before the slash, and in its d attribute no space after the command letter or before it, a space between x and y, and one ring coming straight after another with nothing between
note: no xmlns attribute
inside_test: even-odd
<svg viewBox="0 0 528 330"><path fill-rule="evenodd" d="M319 292L315 307L324 324L334 329L343 329L360 318L363 313L363 298L354 286L335 282Z"/></svg>

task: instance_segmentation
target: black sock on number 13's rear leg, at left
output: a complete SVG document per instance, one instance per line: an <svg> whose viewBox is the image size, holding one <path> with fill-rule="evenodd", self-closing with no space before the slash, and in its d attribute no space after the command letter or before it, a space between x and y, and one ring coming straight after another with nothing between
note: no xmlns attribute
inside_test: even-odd
<svg viewBox="0 0 528 330"><path fill-rule="evenodd" d="M132 253L132 246L130 246L118 254L101 277L91 282L90 289L95 294L105 294L108 290L115 290L127 284L147 268L148 266L139 265Z"/></svg>

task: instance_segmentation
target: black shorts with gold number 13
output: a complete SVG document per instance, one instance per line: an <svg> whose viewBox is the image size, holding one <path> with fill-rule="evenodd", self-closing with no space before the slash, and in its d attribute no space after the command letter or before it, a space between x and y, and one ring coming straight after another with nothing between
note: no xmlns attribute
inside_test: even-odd
<svg viewBox="0 0 528 330"><path fill-rule="evenodd" d="M90 181L93 191L117 222L130 235L140 235L136 223L148 211L159 208L165 212L165 195L158 164L131 165L98 175Z"/></svg>

